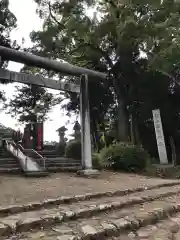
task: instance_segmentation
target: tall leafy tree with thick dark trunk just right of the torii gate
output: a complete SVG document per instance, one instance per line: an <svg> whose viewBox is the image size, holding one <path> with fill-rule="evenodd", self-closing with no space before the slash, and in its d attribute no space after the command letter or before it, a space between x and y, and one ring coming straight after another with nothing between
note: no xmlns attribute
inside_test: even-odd
<svg viewBox="0 0 180 240"><path fill-rule="evenodd" d="M118 0L99 0L93 6L97 13L89 17L85 1L36 2L44 28L31 33L34 47L30 51L109 73L112 80L97 83L100 88L95 102L93 87L90 90L91 111L101 103L106 115L118 103L119 140L127 140L130 115L138 111L141 100L138 92L142 72L161 72L171 79L171 85L176 80L173 75L180 58L179 3L156 0L144 4L134 0L120 4ZM103 91L109 96L106 104L103 102L108 98ZM75 106L73 101L71 104Z"/></svg>

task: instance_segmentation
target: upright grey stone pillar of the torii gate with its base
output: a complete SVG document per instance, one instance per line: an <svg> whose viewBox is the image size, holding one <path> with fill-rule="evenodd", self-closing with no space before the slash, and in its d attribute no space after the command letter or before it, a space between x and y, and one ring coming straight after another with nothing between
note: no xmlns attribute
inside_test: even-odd
<svg viewBox="0 0 180 240"><path fill-rule="evenodd" d="M98 171L92 169L88 76L82 75L80 80L81 161L84 170L80 171L79 174L88 176L97 175Z"/></svg>

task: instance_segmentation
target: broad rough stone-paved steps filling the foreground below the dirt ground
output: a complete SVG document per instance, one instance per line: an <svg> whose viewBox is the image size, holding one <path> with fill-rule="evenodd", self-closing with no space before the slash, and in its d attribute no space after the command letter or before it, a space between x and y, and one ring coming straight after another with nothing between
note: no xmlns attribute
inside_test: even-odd
<svg viewBox="0 0 180 240"><path fill-rule="evenodd" d="M180 183L152 182L129 192L102 194L101 189L101 194L59 197L46 205L1 208L0 239L180 240Z"/></svg>

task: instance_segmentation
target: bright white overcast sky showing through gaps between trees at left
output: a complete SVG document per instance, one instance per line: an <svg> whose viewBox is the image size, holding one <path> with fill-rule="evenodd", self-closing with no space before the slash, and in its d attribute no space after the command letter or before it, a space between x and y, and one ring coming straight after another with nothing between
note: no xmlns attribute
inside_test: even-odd
<svg viewBox="0 0 180 240"><path fill-rule="evenodd" d="M29 39L30 32L33 30L39 30L42 26L42 22L36 15L36 4L33 0L10 0L10 10L15 14L18 25L17 29L12 32L11 38L17 40L18 43L21 43L22 38L24 38L24 46L31 46L32 43ZM18 72L21 67L22 64L10 62L8 68ZM12 84L8 84L6 86L1 85L1 89L4 89L7 97L12 96L14 92L14 86L12 86ZM1 112L0 116L0 123L5 126L12 127L14 129L23 129L22 126L17 123L16 119L11 118L11 116L5 114L5 112ZM69 120L70 119L65 115L65 112L61 110L61 107L56 106L50 113L50 120L44 123L44 140L58 141L59 137L56 130ZM68 124L67 134L72 133L72 122L74 120L75 116L71 118L71 123Z"/></svg>

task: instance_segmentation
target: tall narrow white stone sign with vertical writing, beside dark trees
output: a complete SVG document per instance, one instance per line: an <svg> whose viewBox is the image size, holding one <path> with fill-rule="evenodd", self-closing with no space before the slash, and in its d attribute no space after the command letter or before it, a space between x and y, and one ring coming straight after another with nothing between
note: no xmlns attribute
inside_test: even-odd
<svg viewBox="0 0 180 240"><path fill-rule="evenodd" d="M156 141L157 141L160 163L168 164L160 111L159 109L155 109L152 111L152 113L153 113L154 128L156 133Z"/></svg>

